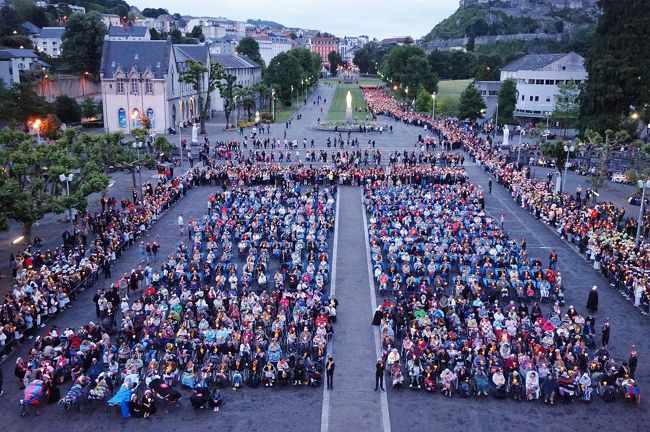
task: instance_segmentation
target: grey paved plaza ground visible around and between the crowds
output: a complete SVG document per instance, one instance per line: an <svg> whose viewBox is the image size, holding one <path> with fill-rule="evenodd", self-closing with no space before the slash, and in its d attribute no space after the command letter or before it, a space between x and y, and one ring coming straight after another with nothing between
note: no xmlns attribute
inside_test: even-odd
<svg viewBox="0 0 650 432"><path fill-rule="evenodd" d="M333 138L333 132L316 131L312 127L318 118L325 118L327 104L321 102L314 105L317 96L328 103L334 95L335 88L320 85L312 94L304 107L299 111L302 119L292 120L290 127L285 124L271 126L270 137L283 138L286 130L287 139L299 142L298 151L303 153L302 140L312 138L316 143L316 151L333 149L326 147L328 137ZM321 114L321 107L324 113ZM392 125L393 133L358 134L353 138L360 141L360 149L370 148L368 140L375 141L375 149L382 152L382 161L387 161L388 155L394 151L413 151L418 135L426 132L422 128L407 126L389 118L380 118L382 124ZM209 123L208 135L211 142L215 140L240 139L233 132L223 131L221 123ZM265 138L267 135L263 135ZM343 135L345 139L345 134ZM177 140L178 136L170 139ZM350 150L345 147L343 150ZM245 150L246 152L246 150ZM511 197L510 193L498 182L494 181L493 192L487 193L490 175L483 167L473 164L466 156L465 168L470 181L482 186L485 191L486 210L494 219L501 212L505 215L505 229L512 238L524 236L527 239L528 251L531 258L539 258L546 263L551 250L559 254L559 270L562 272L563 285L566 287L566 304L575 305L581 313L586 313L585 306L589 289L593 285L599 287L600 306L595 314L598 337L600 327L606 318L611 323L611 342L609 350L618 360L627 359L632 345L636 345L639 356L639 367L636 379L642 395L650 388L650 371L647 360L650 359L650 345L647 334L650 333L649 318L643 316L629 301L621 297L608 282L595 271L592 266L575 250L562 240L556 232L547 225L535 219L529 212L521 208ZM189 168L185 162L184 168ZM537 175L543 171L537 169ZM143 173L143 180L154 176L154 172ZM120 198L130 197L130 174L118 173L113 176L115 185L110 194ZM146 180L145 180L146 181ZM582 182L582 183L581 183ZM584 180L570 174L567 189L575 190L575 186ZM176 227L180 213L188 221L200 218L206 209L208 197L216 190L216 186L199 186L188 192L187 196L164 213L153 228L144 237L145 242L156 240L160 246L159 258L152 264L158 268L162 257L169 255L181 240ZM608 200L626 205L626 195L629 191L618 185L609 185L604 189ZM90 197L91 209L97 208L97 198ZM56 425L57 430L75 431L140 431L140 430L207 430L207 431L438 431L438 430L471 430L471 431L594 431L603 430L647 430L647 419L650 416L649 404L642 397L639 406L624 404L617 400L606 404L595 397L591 403L573 402L547 406L540 401L516 402L512 400L461 399L445 398L439 392L432 395L422 390L415 391L404 386L392 389L386 380L386 392L374 390L374 371L377 357L381 354L379 334L376 327L371 325L373 313L383 298L376 294L369 273L370 254L368 251L367 218L362 204L360 187L341 186L337 196L336 228L332 242L332 282L331 294L336 295L340 302L337 311L337 323L334 326L334 338L329 352L336 360L334 388L331 391L325 386L319 388L243 388L236 392L224 390L224 405L219 413L211 410L194 411L185 400L180 409L165 413L160 409L151 420L122 420L118 412L109 408L104 412L103 406L91 406L84 412L74 409L66 412L61 406L49 405L42 409L41 415L19 416L18 400L22 395L18 380L13 376L13 367L18 356L25 355L33 341L12 352L1 364L4 374L4 395L0 397L0 410L4 413L0 419L0 431L47 430ZM632 212L638 207L629 207ZM60 243L61 231L64 224L57 222L56 216L48 216L34 232L44 238L46 246L56 247ZM15 230L2 238L7 244ZM3 247L0 258L3 260L2 272L7 274L9 249ZM139 264L137 247L128 249L117 261L113 276L129 272ZM108 288L114 280L104 280L100 277L98 287ZM2 292L10 289L10 281L2 281ZM95 319L95 307L92 303L95 289L82 292L72 306L56 319L48 323L64 328L77 327ZM545 309L545 312L548 308ZM44 329L46 330L46 329ZM69 387L66 383L62 387ZM183 390L184 399L189 392Z"/></svg>

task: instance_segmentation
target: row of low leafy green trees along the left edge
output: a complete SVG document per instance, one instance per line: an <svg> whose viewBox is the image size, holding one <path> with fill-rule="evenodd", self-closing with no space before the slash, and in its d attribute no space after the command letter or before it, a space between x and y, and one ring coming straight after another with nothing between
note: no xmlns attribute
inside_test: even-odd
<svg viewBox="0 0 650 432"><path fill-rule="evenodd" d="M136 140L147 131L136 130ZM47 144L38 144L32 136L11 129L0 131L0 228L10 220L23 225L23 236L31 239L32 225L48 213L63 213L68 208L84 211L87 197L105 191L111 169L128 169L136 188L135 172L139 166L155 166L147 151L138 153L124 144L121 133L81 134L69 129ZM159 137L155 148L169 151L171 144ZM59 181L61 174L74 174L70 194Z"/></svg>

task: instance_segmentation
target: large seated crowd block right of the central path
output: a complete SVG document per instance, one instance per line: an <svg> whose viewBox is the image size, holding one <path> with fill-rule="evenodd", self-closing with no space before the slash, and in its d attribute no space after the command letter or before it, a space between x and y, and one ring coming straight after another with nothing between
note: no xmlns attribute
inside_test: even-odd
<svg viewBox="0 0 650 432"><path fill-rule="evenodd" d="M528 256L469 183L365 187L382 360L394 386L447 396L637 400L636 352L607 349L609 323L564 308L559 271ZM550 308L550 310L549 310Z"/></svg>

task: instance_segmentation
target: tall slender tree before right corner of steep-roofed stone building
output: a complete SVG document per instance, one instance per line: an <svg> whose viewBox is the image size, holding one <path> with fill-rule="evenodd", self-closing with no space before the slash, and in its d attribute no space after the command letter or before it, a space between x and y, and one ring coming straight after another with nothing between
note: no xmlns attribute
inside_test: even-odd
<svg viewBox="0 0 650 432"><path fill-rule="evenodd" d="M196 60L188 60L187 69L179 74L178 80L190 84L197 93L199 113L201 114L201 134L205 134L205 119L210 113L210 96L219 88L223 74L223 67L219 63L212 62L208 69L203 62Z"/></svg>

